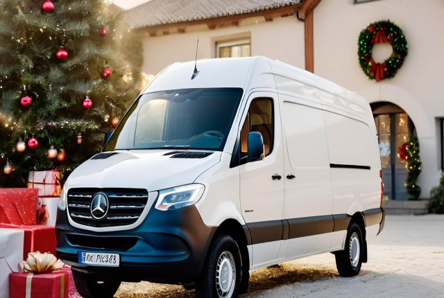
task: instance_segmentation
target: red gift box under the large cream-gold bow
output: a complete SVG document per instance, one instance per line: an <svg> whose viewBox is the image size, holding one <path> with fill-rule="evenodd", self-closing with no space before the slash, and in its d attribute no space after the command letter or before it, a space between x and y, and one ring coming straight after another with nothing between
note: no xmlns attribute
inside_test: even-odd
<svg viewBox="0 0 444 298"><path fill-rule="evenodd" d="M69 273L57 270L51 273L11 273L10 298L68 298Z"/></svg>

